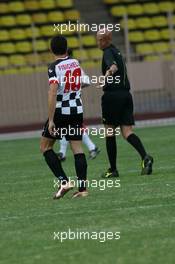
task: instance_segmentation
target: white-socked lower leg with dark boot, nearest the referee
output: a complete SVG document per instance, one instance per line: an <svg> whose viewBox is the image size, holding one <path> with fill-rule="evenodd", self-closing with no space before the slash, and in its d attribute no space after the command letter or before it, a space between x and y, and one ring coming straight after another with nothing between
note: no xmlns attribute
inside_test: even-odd
<svg viewBox="0 0 175 264"><path fill-rule="evenodd" d="M84 131L83 133L83 138L82 138L83 143L87 146L89 150L89 159L95 159L96 156L100 153L99 148L92 142L90 139L89 135Z"/></svg>

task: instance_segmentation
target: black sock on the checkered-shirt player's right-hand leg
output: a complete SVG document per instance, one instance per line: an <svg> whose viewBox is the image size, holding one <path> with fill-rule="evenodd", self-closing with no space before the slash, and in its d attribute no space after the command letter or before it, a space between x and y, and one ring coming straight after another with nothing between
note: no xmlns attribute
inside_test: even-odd
<svg viewBox="0 0 175 264"><path fill-rule="evenodd" d="M74 155L75 158L75 170L79 181L79 192L86 190L86 178L87 178L87 162L84 153L78 153Z"/></svg>

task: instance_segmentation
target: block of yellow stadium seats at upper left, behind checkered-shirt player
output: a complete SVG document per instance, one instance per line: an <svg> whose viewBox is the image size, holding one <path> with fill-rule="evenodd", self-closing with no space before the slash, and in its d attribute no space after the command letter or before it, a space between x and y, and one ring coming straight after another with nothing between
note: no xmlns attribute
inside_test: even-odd
<svg viewBox="0 0 175 264"><path fill-rule="evenodd" d="M1 74L31 73L34 65L48 64L53 59L49 54L49 40L60 33L58 27L54 31L54 24L68 21L76 24L80 19L73 0L1 1L0 15ZM93 67L101 54L96 49L95 36L73 29L65 30L64 35L73 55L84 61L85 66ZM90 60L93 61L90 63ZM42 66L37 67L37 71L43 70Z"/></svg>

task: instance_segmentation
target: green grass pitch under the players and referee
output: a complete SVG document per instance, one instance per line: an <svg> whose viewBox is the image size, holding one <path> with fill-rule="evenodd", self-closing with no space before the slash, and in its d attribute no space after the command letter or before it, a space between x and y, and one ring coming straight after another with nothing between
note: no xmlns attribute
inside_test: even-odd
<svg viewBox="0 0 175 264"><path fill-rule="evenodd" d="M154 156L154 174L140 176L140 159L118 138L121 187L89 197L52 200L53 179L39 152L39 139L0 142L0 263L154 264L175 263L175 127L137 129ZM103 139L89 179L108 168ZM70 150L63 164L74 176ZM53 239L54 232L120 231L119 240Z"/></svg>

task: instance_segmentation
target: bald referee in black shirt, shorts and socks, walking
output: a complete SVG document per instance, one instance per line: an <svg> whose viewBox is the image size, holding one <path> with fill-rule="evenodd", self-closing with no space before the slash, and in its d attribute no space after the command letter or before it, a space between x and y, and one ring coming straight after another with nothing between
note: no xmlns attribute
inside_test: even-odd
<svg viewBox="0 0 175 264"><path fill-rule="evenodd" d="M106 128L106 150L110 163L110 168L103 177L119 176L116 127L120 127L123 138L139 153L142 160L141 175L149 175L152 173L153 158L147 154L141 140L132 130L134 125L133 99L126 64L120 51L112 44L112 33L107 29L97 33L97 44L103 50L102 73L106 77L102 96L102 118Z"/></svg>

